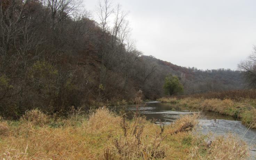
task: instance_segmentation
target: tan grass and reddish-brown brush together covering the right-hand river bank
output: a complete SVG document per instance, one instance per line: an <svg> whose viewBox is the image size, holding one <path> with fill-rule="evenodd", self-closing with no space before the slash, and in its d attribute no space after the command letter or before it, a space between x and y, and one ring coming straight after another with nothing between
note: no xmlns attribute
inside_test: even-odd
<svg viewBox="0 0 256 160"><path fill-rule="evenodd" d="M191 109L211 111L238 118L249 128L256 128L256 91L231 90L187 96L163 97L157 99L166 103L177 103Z"/></svg>

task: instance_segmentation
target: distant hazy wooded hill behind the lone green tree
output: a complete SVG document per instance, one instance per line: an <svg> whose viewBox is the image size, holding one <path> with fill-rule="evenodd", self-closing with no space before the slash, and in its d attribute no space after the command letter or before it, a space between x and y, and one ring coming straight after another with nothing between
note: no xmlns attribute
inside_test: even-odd
<svg viewBox="0 0 256 160"><path fill-rule="evenodd" d="M154 96L163 95L161 86L163 86L163 80L168 74L177 75L180 78L184 85L184 94L244 89L247 87L241 71L230 69L198 70L195 67L181 67L153 56L142 56L141 58L149 66L156 66L157 68L157 71L151 77L152 79L144 86L145 88L150 86L148 89L151 88L151 90L158 90L158 94ZM152 84L153 81L155 83ZM149 95L151 95L150 92Z"/></svg>

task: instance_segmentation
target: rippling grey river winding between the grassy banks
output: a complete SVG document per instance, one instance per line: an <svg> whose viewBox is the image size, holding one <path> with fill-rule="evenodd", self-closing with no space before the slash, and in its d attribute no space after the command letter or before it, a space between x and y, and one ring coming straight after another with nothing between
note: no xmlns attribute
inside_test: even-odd
<svg viewBox="0 0 256 160"><path fill-rule="evenodd" d="M112 106L110 108L115 112L124 110L129 119L132 118L134 111L136 111L135 105ZM198 110L190 110L188 107L178 104L160 103L157 101L146 102L140 107L141 115L145 115L147 120L154 120L156 123L160 120L167 125L183 114L198 112ZM252 159L256 159L256 151L253 151L256 148L256 129L248 129L242 125L239 119L214 112L203 112L200 114L197 130L201 134L211 132L213 138L227 133L235 134L248 144L249 148L252 149L250 150Z"/></svg>

